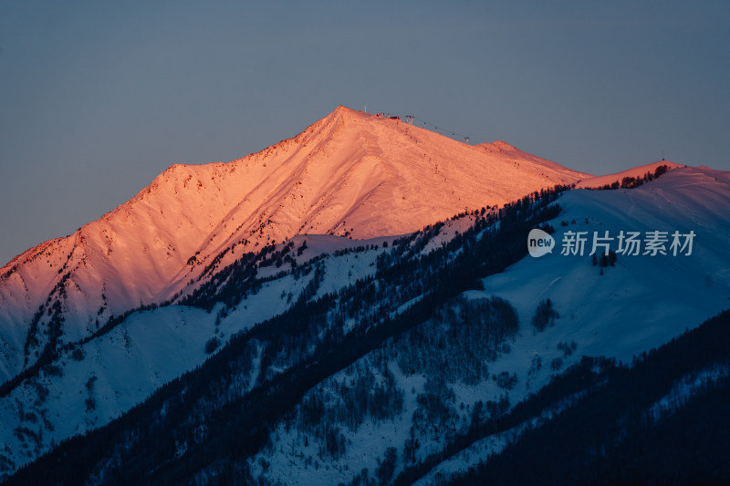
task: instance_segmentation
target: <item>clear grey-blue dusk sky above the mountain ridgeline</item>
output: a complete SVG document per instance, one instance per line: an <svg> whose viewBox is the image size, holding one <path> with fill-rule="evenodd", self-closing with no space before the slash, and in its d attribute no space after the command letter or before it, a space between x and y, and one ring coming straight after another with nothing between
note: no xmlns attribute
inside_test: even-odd
<svg viewBox="0 0 730 486"><path fill-rule="evenodd" d="M728 171L728 78L724 1L2 0L0 265L340 104L594 174Z"/></svg>

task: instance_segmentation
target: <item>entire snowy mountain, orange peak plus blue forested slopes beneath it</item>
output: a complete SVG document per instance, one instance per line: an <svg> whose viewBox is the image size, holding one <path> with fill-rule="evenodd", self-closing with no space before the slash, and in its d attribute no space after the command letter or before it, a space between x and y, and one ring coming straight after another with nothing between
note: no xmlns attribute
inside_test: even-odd
<svg viewBox="0 0 730 486"><path fill-rule="evenodd" d="M537 226L557 246L532 258ZM664 251L593 262L593 234L618 251L621 232L665 232ZM560 254L576 234L584 254ZM461 481L596 409L626 375L611 359L730 307L728 241L730 173L589 179L339 107L245 159L174 166L5 266L0 479ZM631 417L659 423L725 383L704 354Z"/></svg>

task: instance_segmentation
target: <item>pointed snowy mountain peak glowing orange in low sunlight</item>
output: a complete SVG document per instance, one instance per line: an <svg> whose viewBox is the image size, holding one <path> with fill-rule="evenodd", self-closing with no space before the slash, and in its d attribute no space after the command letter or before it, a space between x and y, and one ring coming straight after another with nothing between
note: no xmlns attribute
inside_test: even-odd
<svg viewBox="0 0 730 486"><path fill-rule="evenodd" d="M6 264L0 381L45 349L88 338L112 315L191 292L212 267L269 243L412 233L586 175L502 142L468 146L338 107L244 159L174 165L99 221ZM55 301L63 326L51 322Z"/></svg>

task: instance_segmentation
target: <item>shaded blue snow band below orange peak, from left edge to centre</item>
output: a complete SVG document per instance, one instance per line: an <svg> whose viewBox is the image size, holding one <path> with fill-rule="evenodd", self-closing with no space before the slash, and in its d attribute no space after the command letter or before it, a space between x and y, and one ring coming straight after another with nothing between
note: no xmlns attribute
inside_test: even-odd
<svg viewBox="0 0 730 486"><path fill-rule="evenodd" d="M308 248L297 256L298 264L328 255L328 275L322 284L328 291L373 274L373 262L383 249L337 258L331 253L383 241L330 235L294 239L297 245L306 242ZM12 461L14 470L54 444L120 417L156 388L201 366L209 357L205 351L209 339L224 344L235 333L284 312L312 275L295 278L281 273L274 277L269 267L262 268L260 276L273 279L224 318L217 318L217 312L169 305L133 313L110 332L76 346L73 352L59 353L51 367L0 397L0 478L7 472L3 461ZM254 382L252 376L244 385Z"/></svg>

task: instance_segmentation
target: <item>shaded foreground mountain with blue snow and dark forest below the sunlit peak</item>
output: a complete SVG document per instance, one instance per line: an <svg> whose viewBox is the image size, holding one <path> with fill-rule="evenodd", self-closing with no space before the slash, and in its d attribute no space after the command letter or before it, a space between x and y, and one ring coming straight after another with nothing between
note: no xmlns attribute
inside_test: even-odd
<svg viewBox="0 0 730 486"><path fill-rule="evenodd" d="M214 291L128 316L3 398L6 470L50 450L8 482L468 482L494 457L532 470L511 451L534 453L548 433L588 448L588 459L574 447L556 460L591 463L600 447L620 460L660 432L683 451L671 431L708 429L714 416L695 410L726 397L730 376L727 314L700 326L730 298L728 205L729 173L679 168L635 189L543 191L395 239L299 236L242 256L215 272ZM600 266L588 253L527 256L534 227L557 242L605 231L696 239L689 255ZM276 267L292 254L297 264ZM207 336L224 345L205 359ZM682 430L686 444L702 440ZM677 477L700 472L680 458ZM626 477L658 474L659 462L636 464L622 466ZM555 482L560 470L528 477Z"/></svg>

